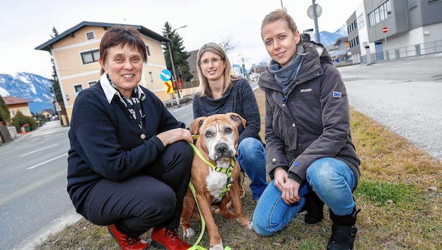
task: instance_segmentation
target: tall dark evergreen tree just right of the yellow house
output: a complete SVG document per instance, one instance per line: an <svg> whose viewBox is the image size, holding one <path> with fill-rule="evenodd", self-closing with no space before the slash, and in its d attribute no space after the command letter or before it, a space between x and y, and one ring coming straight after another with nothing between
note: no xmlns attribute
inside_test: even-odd
<svg viewBox="0 0 442 250"><path fill-rule="evenodd" d="M187 58L189 54L185 50L185 46L182 46L183 41L180 34L175 29L172 29L169 22L166 22L163 27L163 37L170 39L170 51L172 51L173 65L175 65L175 74L180 77L181 81L190 81L192 79L192 73L190 73L189 63ZM173 73L172 63L170 62L169 45L163 44L164 58L166 59L166 67ZM178 79L175 79L175 81Z"/></svg>

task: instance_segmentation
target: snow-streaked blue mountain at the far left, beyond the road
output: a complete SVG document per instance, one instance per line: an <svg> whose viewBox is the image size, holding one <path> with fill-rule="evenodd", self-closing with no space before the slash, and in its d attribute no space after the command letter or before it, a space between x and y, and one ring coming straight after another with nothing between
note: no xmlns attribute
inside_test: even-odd
<svg viewBox="0 0 442 250"><path fill-rule="evenodd" d="M15 96L34 103L28 103L32 113L54 108L52 82L37 74L21 72L15 75L0 74L0 96Z"/></svg>

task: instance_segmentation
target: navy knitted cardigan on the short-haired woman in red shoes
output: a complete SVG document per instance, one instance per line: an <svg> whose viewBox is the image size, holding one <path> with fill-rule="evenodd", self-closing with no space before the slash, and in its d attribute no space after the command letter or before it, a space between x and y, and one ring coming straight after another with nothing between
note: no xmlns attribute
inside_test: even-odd
<svg viewBox="0 0 442 250"><path fill-rule="evenodd" d="M69 129L67 192L77 211L98 180L119 182L149 168L165 148L157 134L185 127L154 93L142 91L146 94L141 101L142 129L129 119L107 77L76 97Z"/></svg>

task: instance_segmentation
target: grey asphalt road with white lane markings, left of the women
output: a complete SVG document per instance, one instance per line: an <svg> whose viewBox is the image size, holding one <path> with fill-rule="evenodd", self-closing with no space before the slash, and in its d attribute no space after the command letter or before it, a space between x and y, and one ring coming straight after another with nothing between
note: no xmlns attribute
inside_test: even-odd
<svg viewBox="0 0 442 250"><path fill-rule="evenodd" d="M50 121L0 147L0 249L32 249L78 220L66 192L68 129Z"/></svg>

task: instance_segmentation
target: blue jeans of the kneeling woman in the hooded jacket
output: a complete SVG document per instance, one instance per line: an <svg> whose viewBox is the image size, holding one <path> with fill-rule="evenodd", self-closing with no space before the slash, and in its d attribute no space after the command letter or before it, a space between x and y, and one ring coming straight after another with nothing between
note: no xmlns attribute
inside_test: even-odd
<svg viewBox="0 0 442 250"><path fill-rule="evenodd" d="M307 183L316 195L338 216L350 214L356 205L351 190L356 178L350 167L330 157L316 160L307 169ZM307 183L301 185L304 186ZM307 192L300 192L303 196ZM304 206L305 199L286 204L274 181L264 190L253 213L253 229L258 235L269 236L283 229Z"/></svg>

